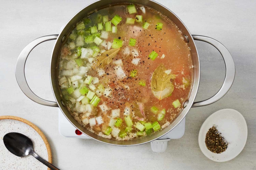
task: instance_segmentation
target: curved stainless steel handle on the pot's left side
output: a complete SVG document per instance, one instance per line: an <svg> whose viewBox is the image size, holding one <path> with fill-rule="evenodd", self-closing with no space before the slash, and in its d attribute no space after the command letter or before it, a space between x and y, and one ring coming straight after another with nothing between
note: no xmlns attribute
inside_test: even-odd
<svg viewBox="0 0 256 170"><path fill-rule="evenodd" d="M37 38L36 40L30 42L21 52L17 59L16 66L15 66L15 76L16 80L20 86L20 89L22 92L31 100L33 100L36 103L39 103L41 105L45 106L52 106L52 107L59 107L57 102L55 101L48 101L44 100L40 97L38 97L35 93L31 91L31 89L28 86L26 77L25 77L25 64L28 58L29 53L34 49L38 44L41 44L44 41L49 40L56 40L58 35L47 35L40 38Z"/></svg>

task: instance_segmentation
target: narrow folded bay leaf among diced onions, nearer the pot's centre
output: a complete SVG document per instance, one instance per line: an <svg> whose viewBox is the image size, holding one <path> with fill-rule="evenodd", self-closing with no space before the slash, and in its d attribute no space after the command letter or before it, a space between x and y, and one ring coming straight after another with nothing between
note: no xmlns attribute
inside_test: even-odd
<svg viewBox="0 0 256 170"><path fill-rule="evenodd" d="M97 57L97 66L100 68L105 67L109 63L112 62L112 60L116 57L117 53L119 52L120 48L114 48L110 49L101 55Z"/></svg>

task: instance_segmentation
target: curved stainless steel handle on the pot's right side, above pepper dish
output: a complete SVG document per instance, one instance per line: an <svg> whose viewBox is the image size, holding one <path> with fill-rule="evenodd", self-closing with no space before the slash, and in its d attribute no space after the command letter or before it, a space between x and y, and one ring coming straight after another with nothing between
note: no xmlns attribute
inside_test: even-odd
<svg viewBox="0 0 256 170"><path fill-rule="evenodd" d="M207 42L212 46L214 46L215 48L217 48L224 59L224 63L226 67L225 79L220 90L211 98L203 101L194 102L192 105L192 107L200 107L200 106L210 105L220 100L228 92L228 90L230 89L231 85L234 82L236 69L235 69L234 60L231 54L229 53L228 49L219 41L214 40L213 38L210 38L210 37L202 36L202 35L192 35L192 37L194 40Z"/></svg>

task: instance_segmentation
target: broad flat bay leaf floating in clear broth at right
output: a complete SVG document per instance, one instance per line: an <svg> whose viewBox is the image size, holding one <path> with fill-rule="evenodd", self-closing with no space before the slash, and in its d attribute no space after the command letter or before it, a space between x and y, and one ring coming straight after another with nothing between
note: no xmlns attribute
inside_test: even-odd
<svg viewBox="0 0 256 170"><path fill-rule="evenodd" d="M151 91L154 96L162 100L170 96L174 90L174 85L170 81L176 77L175 74L166 74L164 64L161 63L153 72L151 79Z"/></svg>

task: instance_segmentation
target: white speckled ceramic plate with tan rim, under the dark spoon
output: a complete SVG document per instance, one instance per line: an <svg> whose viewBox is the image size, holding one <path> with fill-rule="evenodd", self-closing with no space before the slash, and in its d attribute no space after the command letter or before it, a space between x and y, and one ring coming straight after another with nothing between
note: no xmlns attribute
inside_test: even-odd
<svg viewBox="0 0 256 170"><path fill-rule="evenodd" d="M34 145L34 151L43 159L52 163L50 145L43 132L33 123L16 116L0 116L0 169L7 170L50 170L33 156L18 157L9 152L4 146L4 135L18 132L28 136Z"/></svg>

